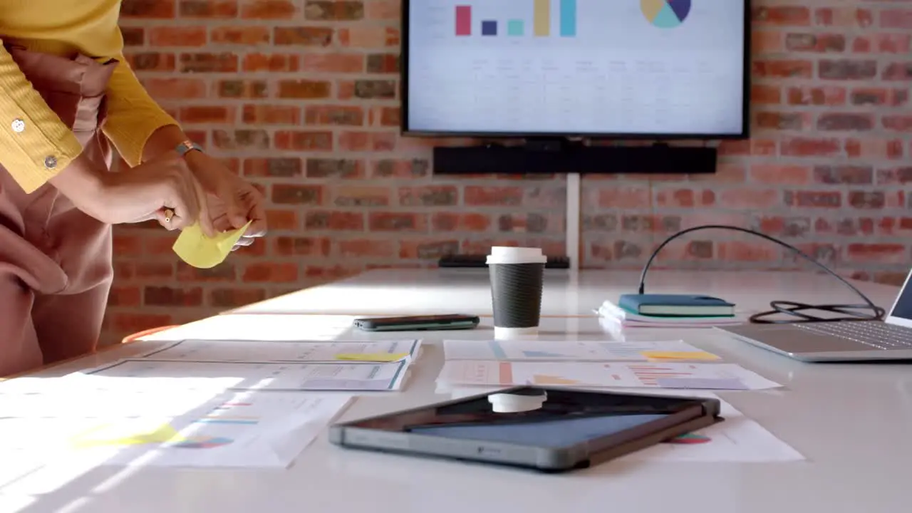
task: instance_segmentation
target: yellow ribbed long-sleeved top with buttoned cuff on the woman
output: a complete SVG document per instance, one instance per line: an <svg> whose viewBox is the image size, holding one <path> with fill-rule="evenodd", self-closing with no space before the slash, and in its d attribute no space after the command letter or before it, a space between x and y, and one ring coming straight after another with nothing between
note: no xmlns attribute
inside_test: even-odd
<svg viewBox="0 0 912 513"><path fill-rule="evenodd" d="M55 55L118 59L107 91L104 132L133 166L152 132L177 121L150 98L123 58L119 11L120 0L2 0L0 39ZM0 46L0 164L31 193L80 152L73 133ZM46 162L56 164L49 169Z"/></svg>

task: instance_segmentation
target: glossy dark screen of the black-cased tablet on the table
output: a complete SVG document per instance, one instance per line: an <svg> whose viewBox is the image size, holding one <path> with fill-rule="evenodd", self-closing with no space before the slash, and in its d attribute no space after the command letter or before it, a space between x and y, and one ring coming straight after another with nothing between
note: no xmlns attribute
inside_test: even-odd
<svg viewBox="0 0 912 513"><path fill-rule="evenodd" d="M533 394L540 393L540 389L527 387L510 392ZM355 426L464 440L565 447L664 419L692 408L695 403L692 398L550 389L541 408L531 411L496 413L488 396L482 395L367 419Z"/></svg>

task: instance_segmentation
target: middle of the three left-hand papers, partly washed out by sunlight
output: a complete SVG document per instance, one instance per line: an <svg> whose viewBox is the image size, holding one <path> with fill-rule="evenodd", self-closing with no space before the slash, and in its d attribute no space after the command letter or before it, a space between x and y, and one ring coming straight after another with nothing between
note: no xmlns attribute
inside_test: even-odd
<svg viewBox="0 0 912 513"><path fill-rule="evenodd" d="M240 361L121 360L67 374L77 390L284 390L378 392L399 390L409 361L384 363L249 363ZM35 383L33 383L34 385ZM25 387L19 387L21 390Z"/></svg>

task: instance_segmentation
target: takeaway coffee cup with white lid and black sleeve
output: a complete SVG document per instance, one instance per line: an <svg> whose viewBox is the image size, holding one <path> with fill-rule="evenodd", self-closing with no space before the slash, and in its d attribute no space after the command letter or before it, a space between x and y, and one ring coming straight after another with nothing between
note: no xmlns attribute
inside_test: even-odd
<svg viewBox="0 0 912 513"><path fill-rule="evenodd" d="M495 339L517 339L538 333L547 260L538 247L491 248L487 262Z"/></svg>

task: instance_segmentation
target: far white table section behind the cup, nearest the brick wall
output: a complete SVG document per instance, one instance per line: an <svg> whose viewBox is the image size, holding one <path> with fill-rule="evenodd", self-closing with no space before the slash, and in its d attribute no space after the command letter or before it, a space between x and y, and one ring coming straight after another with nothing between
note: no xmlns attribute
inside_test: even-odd
<svg viewBox="0 0 912 513"><path fill-rule="evenodd" d="M593 310L598 309L606 299L617 301L621 294L635 293L638 283L637 271L546 269L542 315L592 315ZM890 307L896 294L896 288L886 285L852 283L885 309ZM714 295L734 302L739 308L755 305L757 310L767 309L769 302L776 299L814 303L861 302L834 277L798 271L681 272L653 269L647 275L646 291ZM490 316L491 282L484 268L377 269L227 313L463 313Z"/></svg>

